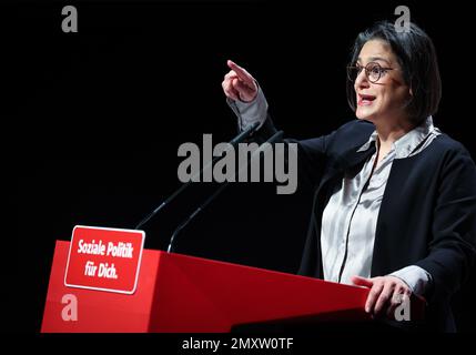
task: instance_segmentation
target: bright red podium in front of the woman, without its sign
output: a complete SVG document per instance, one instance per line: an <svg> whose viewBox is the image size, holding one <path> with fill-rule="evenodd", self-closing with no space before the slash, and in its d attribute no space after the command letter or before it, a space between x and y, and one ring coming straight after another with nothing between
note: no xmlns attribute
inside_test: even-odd
<svg viewBox="0 0 476 355"><path fill-rule="evenodd" d="M42 333L222 333L293 320L363 321L368 290L256 267L144 250L133 294L68 287L70 242L57 241ZM77 320L64 320L64 296Z"/></svg>

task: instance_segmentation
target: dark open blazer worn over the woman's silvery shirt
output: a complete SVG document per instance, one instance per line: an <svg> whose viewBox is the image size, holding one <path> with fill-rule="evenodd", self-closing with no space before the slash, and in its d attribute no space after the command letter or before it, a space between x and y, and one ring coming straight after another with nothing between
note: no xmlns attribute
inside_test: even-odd
<svg viewBox="0 0 476 355"><path fill-rule="evenodd" d="M344 172L362 169L375 152L367 142L375 126L353 120L328 135L298 144L300 189L313 189L314 203L298 274L323 277L322 213ZM255 139L275 132L269 118ZM291 141L291 140L287 140ZM476 168L467 150L440 134L421 153L395 159L377 219L372 276L408 265L426 270L433 283L426 327L455 331L450 297L467 278L476 255Z"/></svg>

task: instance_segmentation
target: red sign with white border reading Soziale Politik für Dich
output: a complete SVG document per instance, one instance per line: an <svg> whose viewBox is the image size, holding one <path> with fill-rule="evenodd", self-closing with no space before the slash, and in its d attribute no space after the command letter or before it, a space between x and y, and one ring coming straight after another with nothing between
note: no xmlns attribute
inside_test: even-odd
<svg viewBox="0 0 476 355"><path fill-rule="evenodd" d="M77 225L64 285L124 294L135 292L145 233Z"/></svg>

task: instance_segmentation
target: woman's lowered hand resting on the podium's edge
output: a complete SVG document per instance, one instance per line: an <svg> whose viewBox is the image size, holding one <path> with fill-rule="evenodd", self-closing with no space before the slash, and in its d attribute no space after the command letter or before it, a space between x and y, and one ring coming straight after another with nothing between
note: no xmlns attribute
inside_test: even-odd
<svg viewBox="0 0 476 355"><path fill-rule="evenodd" d="M371 288L365 303L365 312L373 316L386 314L394 318L395 308L402 304L403 297L409 297L412 290L396 276L361 277L353 276L352 282L357 286Z"/></svg>

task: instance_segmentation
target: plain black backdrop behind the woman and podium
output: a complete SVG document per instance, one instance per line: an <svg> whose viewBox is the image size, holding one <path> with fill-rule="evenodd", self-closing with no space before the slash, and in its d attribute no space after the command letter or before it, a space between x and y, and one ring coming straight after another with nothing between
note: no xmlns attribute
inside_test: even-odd
<svg viewBox="0 0 476 355"><path fill-rule="evenodd" d="M64 4L78 9L78 33L61 30ZM474 21L455 1L2 3L4 204L14 211L4 214L13 227L4 239L17 244L9 274L21 280L9 294L13 329L40 329L55 240L69 240L77 224L134 227L180 186L180 144L236 134L221 88L227 59L256 78L286 136L317 136L353 118L350 48L374 21L396 19L398 4L409 7L438 52L435 125L475 156ZM165 248L215 187L196 184L162 211L144 227L146 247ZM182 232L178 251L292 273L310 212L310 196L232 184ZM466 332L476 331L474 280L455 297Z"/></svg>

